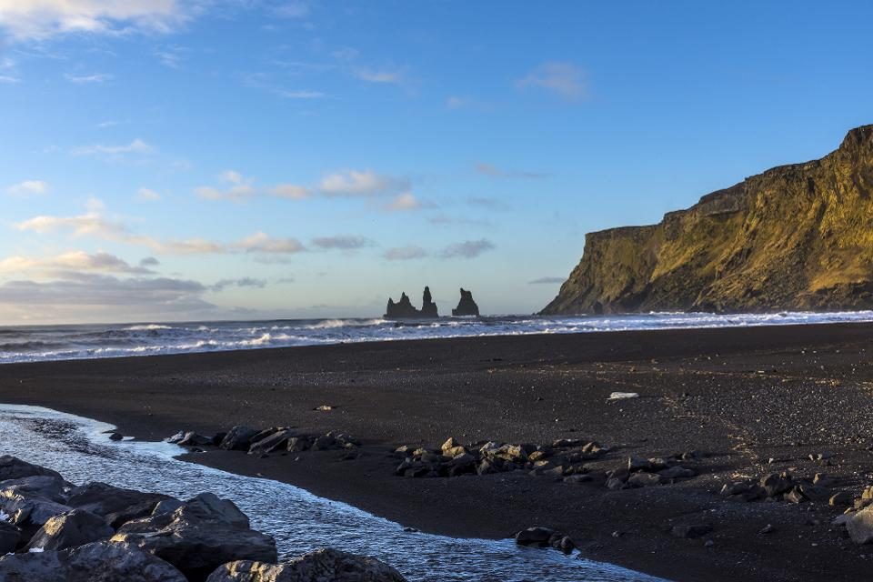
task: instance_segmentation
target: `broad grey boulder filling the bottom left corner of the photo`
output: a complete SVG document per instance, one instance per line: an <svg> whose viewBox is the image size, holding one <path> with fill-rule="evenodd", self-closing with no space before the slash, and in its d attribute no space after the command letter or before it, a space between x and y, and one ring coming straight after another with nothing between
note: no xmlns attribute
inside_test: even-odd
<svg viewBox="0 0 873 582"><path fill-rule="evenodd" d="M0 558L9 582L187 582L175 567L129 544L96 542Z"/></svg>

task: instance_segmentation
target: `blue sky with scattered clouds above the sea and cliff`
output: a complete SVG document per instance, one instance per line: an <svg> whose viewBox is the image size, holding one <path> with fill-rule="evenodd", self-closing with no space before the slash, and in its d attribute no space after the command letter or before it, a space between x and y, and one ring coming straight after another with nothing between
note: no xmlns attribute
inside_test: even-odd
<svg viewBox="0 0 873 582"><path fill-rule="evenodd" d="M537 311L873 123L871 6L0 0L0 324Z"/></svg>

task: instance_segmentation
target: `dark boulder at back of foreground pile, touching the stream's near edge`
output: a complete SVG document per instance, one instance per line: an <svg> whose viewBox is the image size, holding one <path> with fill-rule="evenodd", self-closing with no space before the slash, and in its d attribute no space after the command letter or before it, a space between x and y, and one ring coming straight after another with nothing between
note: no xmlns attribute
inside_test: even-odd
<svg viewBox="0 0 873 582"><path fill-rule="evenodd" d="M73 488L66 505L90 511L103 517L110 526L119 527L132 519L150 515L160 501L170 498L159 493L122 489L95 481Z"/></svg>

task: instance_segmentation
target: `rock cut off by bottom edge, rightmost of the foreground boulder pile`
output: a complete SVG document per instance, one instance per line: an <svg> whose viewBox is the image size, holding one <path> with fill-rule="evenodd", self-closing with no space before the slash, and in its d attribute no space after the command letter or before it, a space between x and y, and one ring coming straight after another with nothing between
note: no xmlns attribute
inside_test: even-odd
<svg viewBox="0 0 873 582"><path fill-rule="evenodd" d="M319 549L281 564L242 560L218 567L206 582L406 582L375 557Z"/></svg>

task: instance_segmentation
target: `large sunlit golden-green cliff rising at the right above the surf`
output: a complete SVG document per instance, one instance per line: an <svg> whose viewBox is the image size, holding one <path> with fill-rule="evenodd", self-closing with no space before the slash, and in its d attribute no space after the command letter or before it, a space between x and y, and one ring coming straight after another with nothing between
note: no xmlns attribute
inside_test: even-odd
<svg viewBox="0 0 873 582"><path fill-rule="evenodd" d="M670 212L585 239L543 314L873 307L873 125Z"/></svg>

